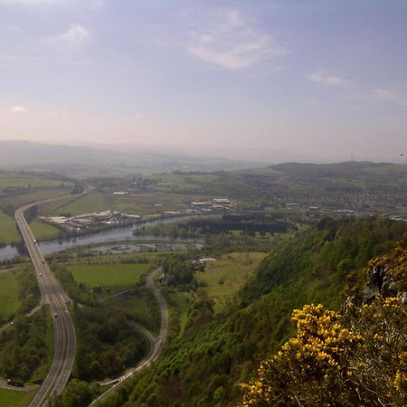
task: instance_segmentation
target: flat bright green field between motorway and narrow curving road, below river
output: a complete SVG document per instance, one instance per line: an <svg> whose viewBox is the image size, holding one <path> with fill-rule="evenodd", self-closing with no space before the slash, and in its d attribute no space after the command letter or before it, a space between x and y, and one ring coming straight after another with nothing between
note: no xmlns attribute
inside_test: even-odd
<svg viewBox="0 0 407 407"><path fill-rule="evenodd" d="M75 264L69 265L77 283L89 288L102 286L109 289L126 289L134 286L140 277L151 267L150 264Z"/></svg>

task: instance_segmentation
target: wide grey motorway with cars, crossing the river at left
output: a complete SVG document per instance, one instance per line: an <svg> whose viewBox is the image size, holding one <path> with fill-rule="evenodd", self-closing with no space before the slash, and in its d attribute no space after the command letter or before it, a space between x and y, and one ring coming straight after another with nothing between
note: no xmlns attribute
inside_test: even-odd
<svg viewBox="0 0 407 407"><path fill-rule="evenodd" d="M69 298L62 290L58 280L52 276L51 270L43 258L43 253L35 241L33 232L24 218L24 212L36 204L39 203L26 204L17 209L15 211L15 220L33 261L41 290L42 302L49 304L51 308L54 352L50 371L29 407L44 406L52 394L59 395L62 393L71 376L76 351L75 327L66 306Z"/></svg>

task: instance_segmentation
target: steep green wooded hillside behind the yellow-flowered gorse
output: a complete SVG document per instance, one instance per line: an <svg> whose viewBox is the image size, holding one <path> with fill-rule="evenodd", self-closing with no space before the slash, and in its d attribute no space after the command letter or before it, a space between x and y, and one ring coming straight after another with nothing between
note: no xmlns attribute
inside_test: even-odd
<svg viewBox="0 0 407 407"><path fill-rule="evenodd" d="M389 251L407 231L382 219L325 220L273 250L241 291L241 308L167 346L163 358L104 405L228 406L261 359L294 332L292 310L337 309L346 275Z"/></svg>

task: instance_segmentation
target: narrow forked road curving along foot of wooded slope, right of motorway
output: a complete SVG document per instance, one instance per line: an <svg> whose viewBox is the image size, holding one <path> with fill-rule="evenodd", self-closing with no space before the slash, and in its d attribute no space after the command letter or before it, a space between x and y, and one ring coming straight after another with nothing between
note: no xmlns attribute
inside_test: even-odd
<svg viewBox="0 0 407 407"><path fill-rule="evenodd" d="M142 369L145 369L147 366L152 364L158 357L161 355L163 350L163 345L166 342L166 334L168 332L168 307L166 305L166 299L162 296L160 290L156 287L154 279L158 273L162 272L161 268L151 271L147 276L147 289L150 289L156 297L156 300L160 306L160 313L161 313L161 327L160 333L158 336L154 337L151 333L145 328L137 324L137 329L141 331L144 335L147 336L148 341L151 344L150 352L147 357L142 360L136 367L129 370L126 374L118 377L116 380L112 380L110 383L114 383L112 387L109 388L105 393L99 395L97 399L90 403L90 405L94 405L98 402L101 402L107 395L112 393L116 390L116 386L119 383L124 382L128 378L132 377L133 374L136 374ZM105 383L108 384L108 383Z"/></svg>

